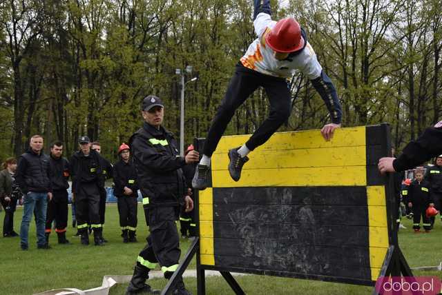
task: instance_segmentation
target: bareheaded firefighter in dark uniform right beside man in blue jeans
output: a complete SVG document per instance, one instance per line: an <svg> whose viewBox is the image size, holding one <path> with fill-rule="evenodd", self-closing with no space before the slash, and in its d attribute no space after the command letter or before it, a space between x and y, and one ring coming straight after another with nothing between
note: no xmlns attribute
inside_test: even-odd
<svg viewBox="0 0 442 295"><path fill-rule="evenodd" d="M68 244L66 227L68 227L68 188L69 162L63 156L63 143L55 141L50 145L50 181L52 183L52 200L48 202L46 213L46 243L49 241L52 221L55 219L55 232L58 243Z"/></svg>

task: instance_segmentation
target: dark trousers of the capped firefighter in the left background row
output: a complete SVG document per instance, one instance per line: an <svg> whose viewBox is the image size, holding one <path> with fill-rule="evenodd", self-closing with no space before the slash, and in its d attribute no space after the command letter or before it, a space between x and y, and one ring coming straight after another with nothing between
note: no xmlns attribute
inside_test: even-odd
<svg viewBox="0 0 442 295"><path fill-rule="evenodd" d="M77 230L87 230L88 225L101 230L99 218L99 190L97 183L80 183L75 192Z"/></svg>

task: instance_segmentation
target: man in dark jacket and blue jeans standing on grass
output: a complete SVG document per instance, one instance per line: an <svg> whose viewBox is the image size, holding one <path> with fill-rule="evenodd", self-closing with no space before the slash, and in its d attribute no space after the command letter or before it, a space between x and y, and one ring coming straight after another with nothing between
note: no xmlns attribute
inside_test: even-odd
<svg viewBox="0 0 442 295"><path fill-rule="evenodd" d="M21 250L28 250L29 223L35 211L37 224L37 248L50 249L44 234L46 210L52 199L49 157L43 152L43 137L30 138L29 149L19 157L16 180L23 192L23 218L20 227Z"/></svg>

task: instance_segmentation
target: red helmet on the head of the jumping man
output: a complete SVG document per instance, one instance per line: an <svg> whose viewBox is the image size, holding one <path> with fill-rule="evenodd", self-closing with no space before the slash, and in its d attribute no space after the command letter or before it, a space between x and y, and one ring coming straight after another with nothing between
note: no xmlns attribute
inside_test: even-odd
<svg viewBox="0 0 442 295"><path fill-rule="evenodd" d="M301 27L293 17L278 21L265 40L271 49L285 53L299 50L305 43L301 36Z"/></svg>

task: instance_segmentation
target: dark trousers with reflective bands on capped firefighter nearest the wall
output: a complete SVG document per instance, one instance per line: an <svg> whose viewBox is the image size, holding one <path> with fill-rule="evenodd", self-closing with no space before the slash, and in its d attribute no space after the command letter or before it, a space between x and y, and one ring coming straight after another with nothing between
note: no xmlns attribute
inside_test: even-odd
<svg viewBox="0 0 442 295"><path fill-rule="evenodd" d="M154 269L160 263L164 277L170 278L180 260L180 237L175 224L175 207L148 208L149 231L147 245L137 258L137 265Z"/></svg>

